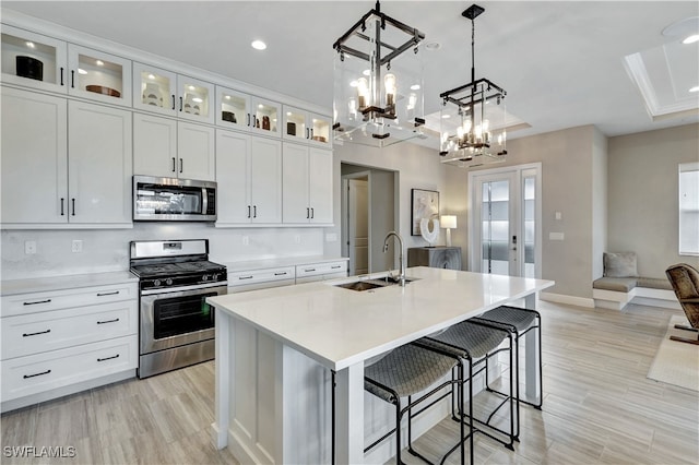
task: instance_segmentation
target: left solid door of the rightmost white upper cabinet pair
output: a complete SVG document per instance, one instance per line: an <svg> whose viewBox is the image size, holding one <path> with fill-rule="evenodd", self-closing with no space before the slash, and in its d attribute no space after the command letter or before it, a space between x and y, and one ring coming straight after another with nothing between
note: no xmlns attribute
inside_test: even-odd
<svg viewBox="0 0 699 465"><path fill-rule="evenodd" d="M285 143L282 162L284 223L308 223L308 147Z"/></svg>

